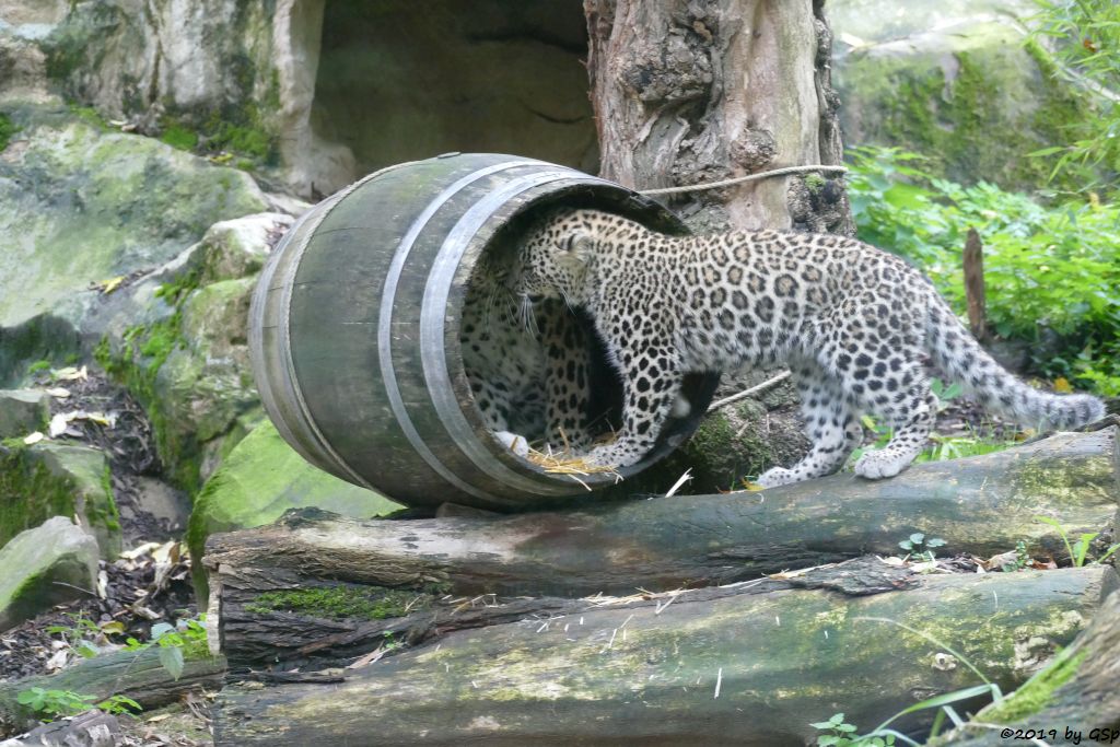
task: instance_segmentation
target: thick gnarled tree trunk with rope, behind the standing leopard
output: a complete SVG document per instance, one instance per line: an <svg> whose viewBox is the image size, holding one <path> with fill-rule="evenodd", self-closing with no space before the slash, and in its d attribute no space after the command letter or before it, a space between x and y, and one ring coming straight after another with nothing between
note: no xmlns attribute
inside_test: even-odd
<svg viewBox="0 0 1120 747"><path fill-rule="evenodd" d="M823 0L585 0L600 171L637 189L842 158ZM823 177L823 178L822 178ZM701 230L851 234L843 181L775 177L691 193Z"/></svg>

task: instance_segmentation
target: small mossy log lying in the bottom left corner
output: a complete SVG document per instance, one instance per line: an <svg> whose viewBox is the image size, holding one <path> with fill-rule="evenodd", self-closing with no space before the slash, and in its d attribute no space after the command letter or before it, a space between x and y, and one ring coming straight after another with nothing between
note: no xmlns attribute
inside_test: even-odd
<svg viewBox="0 0 1120 747"><path fill-rule="evenodd" d="M188 654L183 674L176 679L160 664L158 648L103 654L57 674L0 682L0 737L22 731L37 722L37 716L43 716L18 702L19 693L31 688L68 690L90 695L93 702L111 695L125 695L148 709L175 702L195 688L218 688L224 676L224 656Z"/></svg>

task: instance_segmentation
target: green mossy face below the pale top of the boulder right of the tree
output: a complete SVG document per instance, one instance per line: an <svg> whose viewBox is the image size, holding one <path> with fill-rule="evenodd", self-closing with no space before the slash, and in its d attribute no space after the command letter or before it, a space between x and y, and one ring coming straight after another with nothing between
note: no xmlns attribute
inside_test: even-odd
<svg viewBox="0 0 1120 747"><path fill-rule="evenodd" d="M1017 31L977 24L922 52L855 53L838 64L842 116L852 144L899 146L953 180L1004 188L1045 184L1056 156L1026 153L1070 140L1091 103L1053 75L1049 55ZM1063 175L1067 187L1081 176Z"/></svg>

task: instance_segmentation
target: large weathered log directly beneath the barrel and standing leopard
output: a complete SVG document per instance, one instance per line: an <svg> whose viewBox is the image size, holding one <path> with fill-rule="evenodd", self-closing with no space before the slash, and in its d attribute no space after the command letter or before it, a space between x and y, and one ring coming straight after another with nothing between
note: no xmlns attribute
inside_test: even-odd
<svg viewBox="0 0 1120 747"><path fill-rule="evenodd" d="M567 613L564 599L597 592L726 585L868 552L895 554L913 532L944 539L943 555L987 558L1019 540L1035 554L1062 555L1061 535L1036 516L1055 519L1071 536L1110 526L1120 499L1118 460L1110 429L916 465L875 483L842 475L764 493L513 517L361 522L291 512L271 526L211 539L209 619L231 665L260 665L356 655L385 632L418 641L511 615ZM411 589L423 604L372 620L261 608L263 592L334 587L371 604ZM480 609L464 605L469 611L452 614L437 604L442 595L563 599L495 607L476 600Z"/></svg>

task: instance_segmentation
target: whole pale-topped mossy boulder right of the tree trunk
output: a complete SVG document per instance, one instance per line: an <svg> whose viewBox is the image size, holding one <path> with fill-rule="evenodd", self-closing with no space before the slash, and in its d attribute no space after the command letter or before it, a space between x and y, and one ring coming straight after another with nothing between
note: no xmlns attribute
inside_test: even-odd
<svg viewBox="0 0 1120 747"><path fill-rule="evenodd" d="M1063 142L1092 115L1052 76L1048 53L1024 34L1033 2L830 1L833 81L848 146L898 146L964 184L1045 184L1054 164L1025 155ZM1009 18L1010 17L1010 18ZM1079 185L1080 186L1080 185Z"/></svg>

